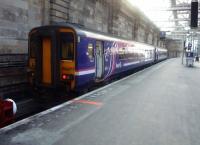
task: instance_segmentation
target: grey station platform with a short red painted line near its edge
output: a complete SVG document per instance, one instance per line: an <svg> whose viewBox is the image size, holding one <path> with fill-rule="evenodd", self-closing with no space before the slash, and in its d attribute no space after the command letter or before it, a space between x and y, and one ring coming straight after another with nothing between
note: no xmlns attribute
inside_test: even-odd
<svg viewBox="0 0 200 145"><path fill-rule="evenodd" d="M200 65L169 59L0 130L1 145L199 145Z"/></svg>

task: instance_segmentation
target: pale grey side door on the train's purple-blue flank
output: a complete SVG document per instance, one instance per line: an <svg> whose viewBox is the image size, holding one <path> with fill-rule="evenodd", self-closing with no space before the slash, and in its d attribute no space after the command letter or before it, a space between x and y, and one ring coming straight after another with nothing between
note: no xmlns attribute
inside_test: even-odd
<svg viewBox="0 0 200 145"><path fill-rule="evenodd" d="M104 49L103 49L103 42L96 41L96 78L100 79L103 77L104 72Z"/></svg>

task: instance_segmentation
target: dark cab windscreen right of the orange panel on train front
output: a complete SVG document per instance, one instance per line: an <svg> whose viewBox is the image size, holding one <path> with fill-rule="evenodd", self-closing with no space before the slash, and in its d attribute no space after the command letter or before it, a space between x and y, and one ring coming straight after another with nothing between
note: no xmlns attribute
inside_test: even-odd
<svg viewBox="0 0 200 145"><path fill-rule="evenodd" d="M74 59L74 35L71 32L60 34L61 57L64 60Z"/></svg>

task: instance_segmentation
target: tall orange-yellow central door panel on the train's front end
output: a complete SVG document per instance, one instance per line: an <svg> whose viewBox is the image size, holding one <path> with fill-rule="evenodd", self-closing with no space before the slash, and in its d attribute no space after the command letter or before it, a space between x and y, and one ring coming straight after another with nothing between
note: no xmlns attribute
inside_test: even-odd
<svg viewBox="0 0 200 145"><path fill-rule="evenodd" d="M43 38L42 42L42 82L51 84L51 40Z"/></svg>

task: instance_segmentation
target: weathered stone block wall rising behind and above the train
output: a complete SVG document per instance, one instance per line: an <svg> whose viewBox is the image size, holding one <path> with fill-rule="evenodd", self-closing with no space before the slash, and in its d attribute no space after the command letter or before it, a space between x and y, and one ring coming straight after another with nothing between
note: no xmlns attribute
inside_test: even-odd
<svg viewBox="0 0 200 145"><path fill-rule="evenodd" d="M159 44L159 29L126 1L1 0L0 54L27 53L27 34L31 28L65 21L126 39Z"/></svg>

